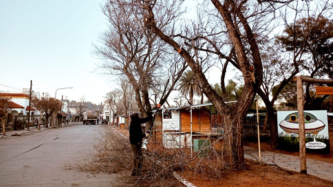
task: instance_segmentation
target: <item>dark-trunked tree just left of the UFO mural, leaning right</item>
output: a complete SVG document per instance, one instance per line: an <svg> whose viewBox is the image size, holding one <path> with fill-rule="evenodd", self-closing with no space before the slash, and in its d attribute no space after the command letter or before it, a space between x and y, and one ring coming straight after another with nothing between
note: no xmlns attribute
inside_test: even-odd
<svg viewBox="0 0 333 187"><path fill-rule="evenodd" d="M306 63L309 58L306 52L321 38L321 36L315 38L315 35L319 33L318 31L320 29L325 27L322 15L332 8L332 5L327 2L328 1L323 1L318 3L316 8L310 5L311 2L295 2L281 11L281 17L285 24L284 34L277 37L277 45L271 45L262 52L264 74L262 86L258 90L258 94L263 99L266 106L267 115L264 126L266 127L267 123L270 124L271 146L273 148L275 148L278 143L277 121L274 117L274 102L278 99L278 95L292 78L304 69L302 67L311 66ZM319 4L323 6L320 7ZM299 11L301 9L304 11ZM304 21L314 9L317 9L318 15L312 15L311 19ZM290 12L294 12L294 19L290 19ZM303 20L303 25L300 20ZM327 33L326 36L328 35L332 36L332 34ZM283 48L285 48L285 51L281 50ZM312 51L316 51L316 49ZM316 62L312 64L317 66ZM314 68L314 72L319 70L320 66L324 67L325 65L325 62L321 63ZM312 77L314 75L315 73L311 74ZM273 88L274 92L272 92Z"/></svg>

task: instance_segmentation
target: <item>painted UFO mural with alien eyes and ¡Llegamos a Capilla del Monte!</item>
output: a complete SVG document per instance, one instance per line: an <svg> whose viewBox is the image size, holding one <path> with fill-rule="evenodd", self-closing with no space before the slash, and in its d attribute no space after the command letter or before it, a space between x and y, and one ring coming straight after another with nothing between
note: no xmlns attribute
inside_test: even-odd
<svg viewBox="0 0 333 187"><path fill-rule="evenodd" d="M279 148L299 150L297 111L277 111ZM329 154L328 121L326 110L304 111L305 147L307 152Z"/></svg>

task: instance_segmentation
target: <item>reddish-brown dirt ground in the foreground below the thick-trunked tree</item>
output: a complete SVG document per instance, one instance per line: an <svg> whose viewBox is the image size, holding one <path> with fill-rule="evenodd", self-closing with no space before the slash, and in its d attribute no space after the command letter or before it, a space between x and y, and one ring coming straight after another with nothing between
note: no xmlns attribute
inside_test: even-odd
<svg viewBox="0 0 333 187"><path fill-rule="evenodd" d="M191 171L183 171L181 176L195 186L223 186L223 187L328 187L333 186L332 181L319 179L314 176L304 175L297 172L289 174L274 166L261 166L252 161L246 161L247 169L236 171L225 176L222 180L206 180L199 176L193 176Z"/></svg>

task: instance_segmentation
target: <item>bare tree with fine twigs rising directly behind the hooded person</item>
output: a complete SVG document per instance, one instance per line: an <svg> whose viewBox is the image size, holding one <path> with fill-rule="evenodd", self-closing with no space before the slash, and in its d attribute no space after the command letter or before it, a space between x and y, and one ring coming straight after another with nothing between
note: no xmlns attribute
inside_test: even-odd
<svg viewBox="0 0 333 187"><path fill-rule="evenodd" d="M111 1L102 10L109 20L109 30L101 36L102 46L95 46L96 54L105 60L101 67L117 79L128 79L139 110L147 116L152 109L150 94L155 90L161 95L161 90L167 87L160 101L163 104L187 66L170 54L154 32L146 29L131 6ZM167 79L170 84L166 84Z"/></svg>

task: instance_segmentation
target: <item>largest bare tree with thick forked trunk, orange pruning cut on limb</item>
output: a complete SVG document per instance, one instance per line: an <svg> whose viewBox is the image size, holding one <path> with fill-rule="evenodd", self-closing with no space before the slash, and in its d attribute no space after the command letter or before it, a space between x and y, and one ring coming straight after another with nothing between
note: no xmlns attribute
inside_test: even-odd
<svg viewBox="0 0 333 187"><path fill-rule="evenodd" d="M215 47L213 48L215 49L215 53L219 53L221 58L226 59L228 55L224 55L221 52L220 47L216 46L214 40L209 40L203 35L204 33L194 33L192 36L188 37L176 35L185 39L185 42L188 44L186 50L170 37L169 33L166 33L170 31L162 30L157 27L157 24L161 22L162 24L168 24L172 21L165 22L164 18L160 18L161 10L166 12L168 18L177 19L179 16L177 10L181 10L181 3L179 4L176 1L162 1L158 3L156 1L142 1L138 3L136 8L142 11L142 19L145 21L146 26L176 50L187 62L195 77L198 79L202 92L212 101L217 111L221 114L222 125L225 129L225 161L230 166L238 167L244 162L241 140L242 122L252 103L257 88L261 84L262 63L256 36L248 23L249 17L244 15L243 10L246 1L224 1L223 4L217 0L212 0L211 2L216 10L214 16L217 14L221 16L219 24L225 25L225 30L220 33L228 33L228 37L233 46L232 48L235 51L233 57L237 59L237 64L235 63L235 65L237 65L237 68L242 72L244 79L244 91L241 93L238 102L234 105L227 105L223 101L223 98L220 97L208 83L204 73L211 65L208 64L208 61L204 61L204 59L209 56L199 52L199 48L202 46L201 40L195 41L193 40L193 36L197 34L195 38L205 39L205 43ZM242 25L241 28L239 24ZM215 35L217 36L218 34Z"/></svg>

